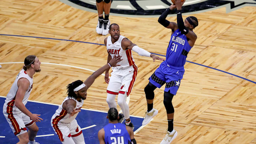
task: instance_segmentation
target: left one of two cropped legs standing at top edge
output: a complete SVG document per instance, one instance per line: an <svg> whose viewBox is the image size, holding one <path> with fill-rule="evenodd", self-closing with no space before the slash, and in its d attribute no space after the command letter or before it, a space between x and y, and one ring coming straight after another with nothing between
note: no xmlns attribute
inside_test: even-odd
<svg viewBox="0 0 256 144"><path fill-rule="evenodd" d="M96 27L96 32L98 34L102 34L103 31L103 1L102 0L96 0L96 7L98 11L98 24Z"/></svg>

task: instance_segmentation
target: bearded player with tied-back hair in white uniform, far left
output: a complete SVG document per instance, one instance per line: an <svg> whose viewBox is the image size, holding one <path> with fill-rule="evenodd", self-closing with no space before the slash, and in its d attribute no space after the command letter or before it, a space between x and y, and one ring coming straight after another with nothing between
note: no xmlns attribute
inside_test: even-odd
<svg viewBox="0 0 256 144"><path fill-rule="evenodd" d="M6 96L3 113L12 132L20 140L17 144L39 144L34 140L38 132L35 122L41 122L43 119L38 117L40 114L31 113L25 105L33 87L33 75L41 71L40 65L36 55L28 55L24 60L23 69L18 73Z"/></svg>

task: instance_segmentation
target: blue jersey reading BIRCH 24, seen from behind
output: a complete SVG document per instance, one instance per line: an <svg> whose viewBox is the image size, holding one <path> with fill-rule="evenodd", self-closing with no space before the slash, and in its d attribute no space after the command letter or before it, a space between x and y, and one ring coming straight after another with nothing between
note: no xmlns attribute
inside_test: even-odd
<svg viewBox="0 0 256 144"><path fill-rule="evenodd" d="M125 124L109 123L104 127L106 144L129 144L130 135Z"/></svg>

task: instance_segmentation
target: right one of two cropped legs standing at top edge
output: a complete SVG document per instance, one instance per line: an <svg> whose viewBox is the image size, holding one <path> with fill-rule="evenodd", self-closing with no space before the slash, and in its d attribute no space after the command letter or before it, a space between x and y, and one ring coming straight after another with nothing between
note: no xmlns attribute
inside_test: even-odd
<svg viewBox="0 0 256 144"><path fill-rule="evenodd" d="M104 8L105 17L103 20L102 35L108 34L108 30L109 30L109 26L110 26L110 20L108 19L108 16L110 14L110 7L111 7L111 0L104 0L103 8Z"/></svg>

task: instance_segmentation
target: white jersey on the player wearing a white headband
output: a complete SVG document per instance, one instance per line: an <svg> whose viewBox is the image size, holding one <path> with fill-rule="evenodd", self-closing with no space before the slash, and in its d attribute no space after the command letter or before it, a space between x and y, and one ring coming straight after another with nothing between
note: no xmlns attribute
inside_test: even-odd
<svg viewBox="0 0 256 144"><path fill-rule="evenodd" d="M69 118L68 112L62 108L63 103L64 103L66 100L69 100L69 99L75 100L75 102L76 102L75 110L81 110L82 105L84 104L84 100L81 99L81 102L79 102L79 101L77 101L75 98L66 97L66 98L64 99L64 101L62 102L62 104L59 106L59 108L56 110L56 112L54 113L54 115L52 116L52 123L53 123L53 124L57 124L58 122L70 123L70 122L72 122L72 121L76 118L76 116L78 115L78 113L76 113L76 114L74 114L74 116L71 116L71 117Z"/></svg>

